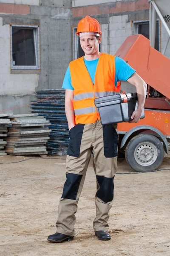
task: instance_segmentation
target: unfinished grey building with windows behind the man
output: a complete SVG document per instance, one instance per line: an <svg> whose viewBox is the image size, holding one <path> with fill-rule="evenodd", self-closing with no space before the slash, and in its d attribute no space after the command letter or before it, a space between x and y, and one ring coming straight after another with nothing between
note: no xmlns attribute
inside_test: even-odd
<svg viewBox="0 0 170 256"><path fill-rule="evenodd" d="M114 55L130 35L149 38L149 9L148 0L0 0L0 111L28 104L38 90L61 88L69 62L83 55L76 35L82 17L99 21L100 50ZM164 53L167 45L170 58L158 15L155 33L155 49Z"/></svg>

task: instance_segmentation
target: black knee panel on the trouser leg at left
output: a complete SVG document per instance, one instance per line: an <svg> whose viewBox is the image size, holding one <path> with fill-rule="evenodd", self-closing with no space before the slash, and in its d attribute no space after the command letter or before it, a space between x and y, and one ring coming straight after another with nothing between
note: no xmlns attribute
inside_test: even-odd
<svg viewBox="0 0 170 256"><path fill-rule="evenodd" d="M68 173L66 178L61 198L76 200L82 175Z"/></svg>

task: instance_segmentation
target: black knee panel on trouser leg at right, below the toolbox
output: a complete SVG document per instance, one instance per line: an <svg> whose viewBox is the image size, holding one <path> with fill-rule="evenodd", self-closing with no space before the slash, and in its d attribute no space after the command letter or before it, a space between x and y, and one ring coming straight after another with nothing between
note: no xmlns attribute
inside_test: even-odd
<svg viewBox="0 0 170 256"><path fill-rule="evenodd" d="M114 177L106 178L103 176L96 175L96 179L100 186L96 192L96 196L105 203L112 201L114 190Z"/></svg>

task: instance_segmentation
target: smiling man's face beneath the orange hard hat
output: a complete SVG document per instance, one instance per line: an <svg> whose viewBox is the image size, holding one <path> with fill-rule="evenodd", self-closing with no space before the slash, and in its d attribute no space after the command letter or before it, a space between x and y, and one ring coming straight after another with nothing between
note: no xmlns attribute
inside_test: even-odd
<svg viewBox="0 0 170 256"><path fill-rule="evenodd" d="M80 37L80 45L82 50L87 55L93 55L96 51L99 50L101 39L101 36L99 37L99 40L97 40L95 35L82 35Z"/></svg>

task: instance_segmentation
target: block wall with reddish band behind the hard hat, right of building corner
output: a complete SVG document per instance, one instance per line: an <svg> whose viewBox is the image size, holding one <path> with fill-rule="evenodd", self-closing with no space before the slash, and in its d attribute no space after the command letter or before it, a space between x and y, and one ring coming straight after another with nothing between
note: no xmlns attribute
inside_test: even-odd
<svg viewBox="0 0 170 256"><path fill-rule="evenodd" d="M74 0L72 13L73 26L86 15L96 18L102 27L102 52L114 55L125 39L133 35L133 21L149 20L149 3L148 0L100 0L96 4L95 0ZM161 23L159 32L162 52L168 35ZM170 58L170 42L165 55ZM126 91L135 91L134 86L123 82L123 90L125 86Z"/></svg>

